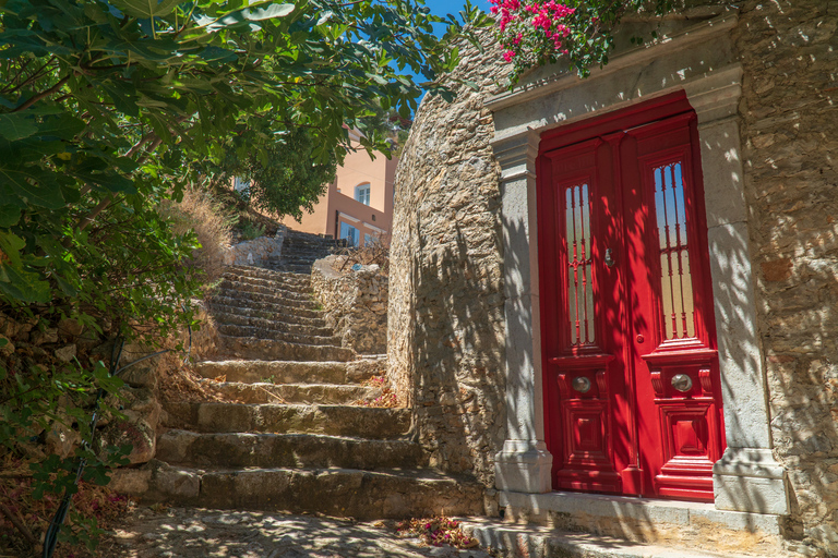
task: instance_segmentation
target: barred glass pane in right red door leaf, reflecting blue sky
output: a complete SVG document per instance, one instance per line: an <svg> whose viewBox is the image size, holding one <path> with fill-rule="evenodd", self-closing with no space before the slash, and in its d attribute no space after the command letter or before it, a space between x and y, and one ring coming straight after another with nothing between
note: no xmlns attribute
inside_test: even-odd
<svg viewBox="0 0 838 558"><path fill-rule="evenodd" d="M660 245L660 333L665 340L692 338L695 337L695 312L681 162L657 167L654 178Z"/></svg>

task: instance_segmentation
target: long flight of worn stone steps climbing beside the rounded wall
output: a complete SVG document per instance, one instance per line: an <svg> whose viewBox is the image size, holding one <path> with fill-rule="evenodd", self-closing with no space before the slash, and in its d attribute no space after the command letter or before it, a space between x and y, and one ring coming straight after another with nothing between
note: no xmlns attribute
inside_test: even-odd
<svg viewBox="0 0 838 558"><path fill-rule="evenodd" d="M239 402L163 402L156 458L134 472L144 500L357 519L482 512L480 485L427 466L410 410L352 404L380 393L364 380L386 363L339 347L308 276L230 268L211 311L223 357L195 371Z"/></svg>

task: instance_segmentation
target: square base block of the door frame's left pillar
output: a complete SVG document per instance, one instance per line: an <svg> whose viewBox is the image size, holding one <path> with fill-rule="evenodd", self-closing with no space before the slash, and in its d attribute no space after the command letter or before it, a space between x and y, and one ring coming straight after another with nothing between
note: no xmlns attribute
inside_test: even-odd
<svg viewBox="0 0 838 558"><path fill-rule="evenodd" d="M494 458L499 490L526 494L549 493L553 457L539 440L506 440Z"/></svg>

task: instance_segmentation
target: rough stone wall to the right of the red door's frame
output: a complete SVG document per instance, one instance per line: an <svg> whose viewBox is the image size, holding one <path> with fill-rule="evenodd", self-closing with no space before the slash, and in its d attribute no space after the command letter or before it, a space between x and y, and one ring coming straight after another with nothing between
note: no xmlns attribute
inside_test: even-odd
<svg viewBox="0 0 838 558"><path fill-rule="evenodd" d="M838 556L838 4L742 2L745 193L790 534ZM805 547L801 547L803 551Z"/></svg>

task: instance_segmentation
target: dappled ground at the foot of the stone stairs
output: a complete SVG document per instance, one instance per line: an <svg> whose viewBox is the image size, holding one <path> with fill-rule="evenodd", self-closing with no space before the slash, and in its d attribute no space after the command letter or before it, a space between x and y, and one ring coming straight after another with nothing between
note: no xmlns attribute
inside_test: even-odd
<svg viewBox="0 0 838 558"><path fill-rule="evenodd" d="M432 547L400 538L395 522L354 522L194 508L131 511L103 541L103 558L489 558L480 549Z"/></svg>

